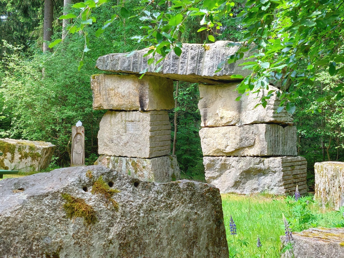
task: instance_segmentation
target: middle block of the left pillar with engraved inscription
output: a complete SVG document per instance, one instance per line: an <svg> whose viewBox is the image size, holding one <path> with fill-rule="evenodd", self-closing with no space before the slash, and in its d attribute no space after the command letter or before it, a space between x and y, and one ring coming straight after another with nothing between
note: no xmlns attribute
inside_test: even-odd
<svg viewBox="0 0 344 258"><path fill-rule="evenodd" d="M153 158L170 154L167 111L107 111L98 132L99 155Z"/></svg>

